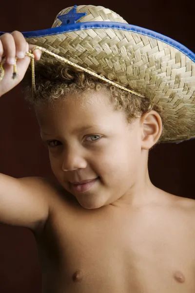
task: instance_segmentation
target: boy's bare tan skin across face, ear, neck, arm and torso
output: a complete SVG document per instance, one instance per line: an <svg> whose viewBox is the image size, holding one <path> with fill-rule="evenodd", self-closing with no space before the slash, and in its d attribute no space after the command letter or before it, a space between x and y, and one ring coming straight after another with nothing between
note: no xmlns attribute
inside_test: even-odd
<svg viewBox="0 0 195 293"><path fill-rule="evenodd" d="M128 124L105 92L83 101L35 108L59 184L0 174L0 222L33 231L43 293L194 293L195 201L148 175L160 116ZM97 177L83 192L70 184Z"/></svg>

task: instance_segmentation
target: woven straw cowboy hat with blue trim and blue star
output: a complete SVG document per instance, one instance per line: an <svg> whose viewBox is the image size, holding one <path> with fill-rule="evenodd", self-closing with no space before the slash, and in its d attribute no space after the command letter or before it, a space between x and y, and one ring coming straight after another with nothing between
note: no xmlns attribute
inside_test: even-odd
<svg viewBox="0 0 195 293"><path fill-rule="evenodd" d="M162 105L169 121L163 142L195 138L195 54L182 44L94 5L65 8L52 28L22 34L42 48L39 62L81 66L97 78L114 73Z"/></svg>

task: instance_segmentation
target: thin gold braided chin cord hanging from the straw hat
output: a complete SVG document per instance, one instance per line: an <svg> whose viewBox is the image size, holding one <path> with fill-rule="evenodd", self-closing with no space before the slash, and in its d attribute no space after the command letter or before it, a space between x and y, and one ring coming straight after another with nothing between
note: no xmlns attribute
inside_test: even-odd
<svg viewBox="0 0 195 293"><path fill-rule="evenodd" d="M88 70L86 68L83 68L83 67L79 66L78 64L75 64L75 63L67 60L66 58L63 58L63 57L61 57L61 56L59 56L59 55L57 55L55 53L50 52L49 50L46 50L45 48L36 46L32 50L29 50L29 53L25 53L25 55L27 55L27 56L29 56L31 58L31 67L32 67L32 95L33 95L33 98L35 97L35 63L34 63L34 57L35 56L32 54L32 52L34 50L36 50L36 49L39 49L39 50L41 50L41 51L43 51L43 52L45 52L45 53L47 53L47 54L49 54L51 56L53 56L53 57L55 57L55 58L63 61L64 63L67 63L69 65L72 65L72 66L74 66L76 68L79 68L82 71L85 71L85 72L87 72L87 73L89 73L89 74L97 77L98 79L101 79L102 81L105 81L105 82L107 82L109 84L112 84L112 85L118 87L118 88L121 88L123 90L126 90L126 91L128 91L128 92L130 92L130 93L132 93L134 95L139 96L139 97L142 97L142 98L144 97L143 95L141 95L141 94L139 94L139 93L137 93L137 92L135 92L133 90L130 90L130 89L128 89L128 88L126 88L126 87L124 87L122 85L116 84L116 83L114 83L114 82L112 82L112 81L110 81L110 80L108 80L108 79L106 79L106 78L98 75L97 73L95 73L93 71L90 71L90 70ZM17 60L17 58L16 58L16 60ZM13 73L12 78L15 79L17 77L17 65L13 65L13 66L14 66L14 73ZM4 76L4 69L2 67L2 62L1 62L0 63L0 81L3 79L3 76Z"/></svg>

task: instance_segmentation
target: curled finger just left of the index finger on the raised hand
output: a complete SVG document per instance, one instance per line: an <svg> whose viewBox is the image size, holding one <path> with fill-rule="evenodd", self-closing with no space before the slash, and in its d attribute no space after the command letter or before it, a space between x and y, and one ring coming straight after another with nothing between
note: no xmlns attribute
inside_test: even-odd
<svg viewBox="0 0 195 293"><path fill-rule="evenodd" d="M1 38L3 46L3 56L6 57L6 63L16 64L16 45L11 34L5 33Z"/></svg>

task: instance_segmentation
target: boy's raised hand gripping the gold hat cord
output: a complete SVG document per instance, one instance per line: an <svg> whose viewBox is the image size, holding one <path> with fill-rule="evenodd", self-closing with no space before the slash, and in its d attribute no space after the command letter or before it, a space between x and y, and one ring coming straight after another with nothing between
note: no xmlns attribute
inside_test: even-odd
<svg viewBox="0 0 195 293"><path fill-rule="evenodd" d="M30 63L30 57L24 55L28 50L36 45L29 45L24 36L19 31L11 34L6 33L0 36L0 62L2 57L6 57L3 61L4 77L0 81L0 96L10 91L13 87L21 82ZM39 60L42 51L36 49L33 51L35 60ZM13 64L17 60L17 78L13 79ZM0 72L1 73L1 72Z"/></svg>

